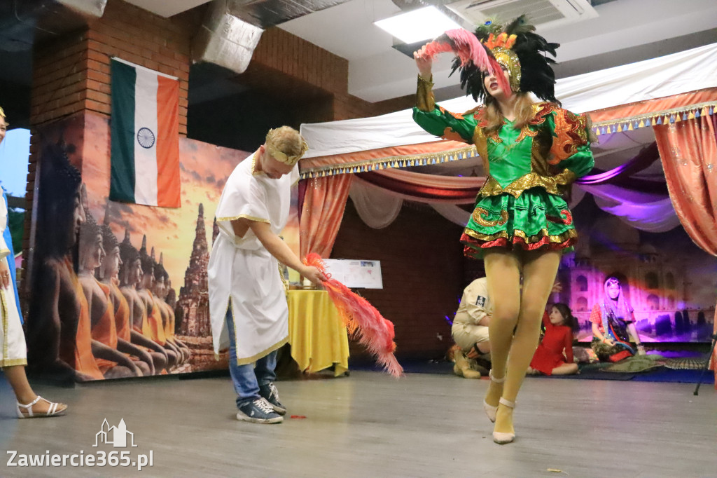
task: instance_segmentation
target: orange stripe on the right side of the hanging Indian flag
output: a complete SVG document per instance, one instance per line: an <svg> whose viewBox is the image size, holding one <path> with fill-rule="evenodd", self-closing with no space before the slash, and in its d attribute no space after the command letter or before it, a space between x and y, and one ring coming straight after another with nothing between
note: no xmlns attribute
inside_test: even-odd
<svg viewBox="0 0 717 478"><path fill-rule="evenodd" d="M179 197L179 81L158 77L157 205L180 207Z"/></svg>

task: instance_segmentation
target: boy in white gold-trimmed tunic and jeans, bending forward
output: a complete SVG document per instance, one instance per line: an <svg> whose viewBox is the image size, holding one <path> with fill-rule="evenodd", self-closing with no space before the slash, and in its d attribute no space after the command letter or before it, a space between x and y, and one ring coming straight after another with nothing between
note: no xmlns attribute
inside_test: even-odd
<svg viewBox="0 0 717 478"><path fill-rule="evenodd" d="M288 306L281 262L313 283L307 267L279 237L286 225L297 163L308 146L282 126L227 179L217 207L219 235L209 256L209 314L214 352L229 347L237 419L279 423L286 409L273 383L276 352L288 341ZM256 362L254 367L252 364Z"/></svg>

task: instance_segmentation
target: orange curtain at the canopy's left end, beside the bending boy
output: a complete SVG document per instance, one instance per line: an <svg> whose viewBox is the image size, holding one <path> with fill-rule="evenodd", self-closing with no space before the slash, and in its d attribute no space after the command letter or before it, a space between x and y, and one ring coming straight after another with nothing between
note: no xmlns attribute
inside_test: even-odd
<svg viewBox="0 0 717 478"><path fill-rule="evenodd" d="M308 253L317 253L323 258L331 255L343 219L343 210L346 209L351 179L353 174L306 179L299 220L299 249L302 258Z"/></svg>

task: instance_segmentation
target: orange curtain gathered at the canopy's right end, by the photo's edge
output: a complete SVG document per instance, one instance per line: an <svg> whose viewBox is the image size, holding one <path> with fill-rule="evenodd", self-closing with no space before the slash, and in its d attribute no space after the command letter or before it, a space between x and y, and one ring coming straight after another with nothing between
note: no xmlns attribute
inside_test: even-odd
<svg viewBox="0 0 717 478"><path fill-rule="evenodd" d="M715 116L654 126L670 197L690 238L717 256Z"/></svg>

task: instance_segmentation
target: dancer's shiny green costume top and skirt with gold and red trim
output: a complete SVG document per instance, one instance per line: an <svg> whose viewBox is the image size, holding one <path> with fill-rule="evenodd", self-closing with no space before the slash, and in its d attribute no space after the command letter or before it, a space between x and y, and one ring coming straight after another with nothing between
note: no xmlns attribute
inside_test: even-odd
<svg viewBox="0 0 717 478"><path fill-rule="evenodd" d="M483 107L451 113L435 104L431 88L419 77L414 121L435 136L474 144L488 174L462 237L466 254L477 257L480 249L494 246L574 245L577 235L562 195L594 165L587 117L555 103L535 103L533 119L523 128L504 119L498 131L486 133Z"/></svg>

